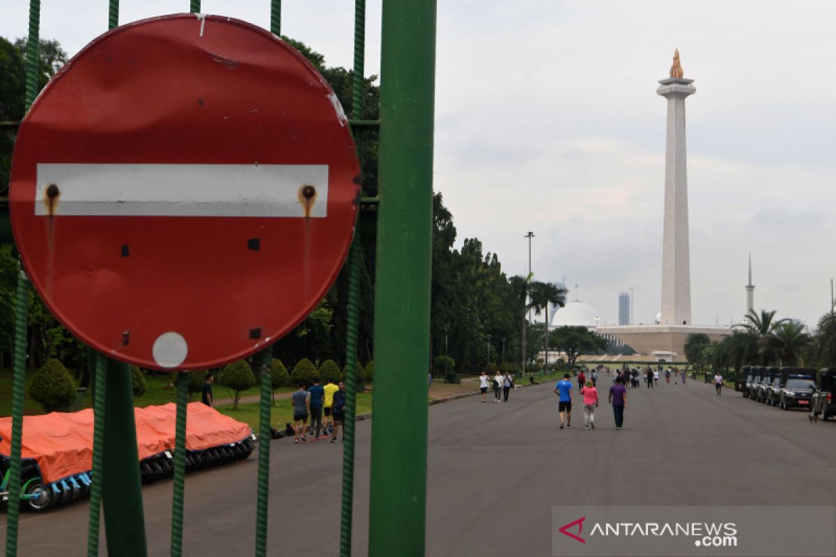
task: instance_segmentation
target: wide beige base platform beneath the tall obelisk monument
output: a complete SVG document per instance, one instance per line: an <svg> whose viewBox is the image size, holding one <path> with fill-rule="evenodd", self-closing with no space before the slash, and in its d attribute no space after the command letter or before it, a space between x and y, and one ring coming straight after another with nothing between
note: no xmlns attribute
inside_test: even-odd
<svg viewBox="0 0 836 557"><path fill-rule="evenodd" d="M685 340L688 335L703 333L712 342L732 334L732 327L706 325L603 325L595 327L601 335L611 335L646 356L653 352L673 352L676 359L685 359ZM669 354L666 354L671 357ZM666 358L660 358L666 359Z"/></svg>

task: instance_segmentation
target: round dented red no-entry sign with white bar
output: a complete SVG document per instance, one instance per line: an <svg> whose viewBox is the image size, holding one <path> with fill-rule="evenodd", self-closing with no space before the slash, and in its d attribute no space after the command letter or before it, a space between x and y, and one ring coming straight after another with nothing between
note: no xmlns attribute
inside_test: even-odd
<svg viewBox="0 0 836 557"><path fill-rule="evenodd" d="M359 164L324 79L230 18L116 28L48 84L12 166L15 239L82 341L216 367L295 327L343 264Z"/></svg>

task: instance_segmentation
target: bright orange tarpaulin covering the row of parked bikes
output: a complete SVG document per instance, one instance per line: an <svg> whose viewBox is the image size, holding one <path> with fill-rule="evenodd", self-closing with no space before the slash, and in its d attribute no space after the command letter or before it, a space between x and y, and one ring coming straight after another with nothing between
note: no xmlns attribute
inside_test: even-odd
<svg viewBox="0 0 836 557"><path fill-rule="evenodd" d="M134 408L140 460L174 448L176 404ZM252 430L203 403L188 405L186 448L199 451L237 443ZM11 453L12 418L0 418L0 454ZM93 468L93 410L23 417L22 458L33 458L43 483Z"/></svg>

